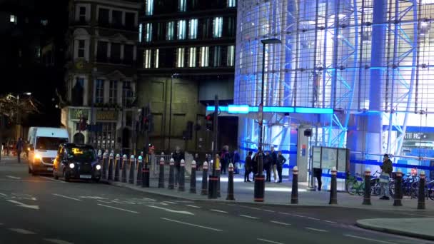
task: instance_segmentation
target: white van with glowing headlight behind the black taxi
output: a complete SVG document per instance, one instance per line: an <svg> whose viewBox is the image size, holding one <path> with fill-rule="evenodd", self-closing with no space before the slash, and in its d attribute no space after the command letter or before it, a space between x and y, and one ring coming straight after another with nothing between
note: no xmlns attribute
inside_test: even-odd
<svg viewBox="0 0 434 244"><path fill-rule="evenodd" d="M69 142L68 131L64 128L29 128L29 173L36 175L53 171L59 145Z"/></svg>

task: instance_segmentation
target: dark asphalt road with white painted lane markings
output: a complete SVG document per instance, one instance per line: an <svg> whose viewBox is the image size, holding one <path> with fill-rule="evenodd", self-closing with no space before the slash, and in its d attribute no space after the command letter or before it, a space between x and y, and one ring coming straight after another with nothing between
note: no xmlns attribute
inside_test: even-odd
<svg viewBox="0 0 434 244"><path fill-rule="evenodd" d="M431 243L354 226L415 213L186 201L0 164L0 243Z"/></svg>

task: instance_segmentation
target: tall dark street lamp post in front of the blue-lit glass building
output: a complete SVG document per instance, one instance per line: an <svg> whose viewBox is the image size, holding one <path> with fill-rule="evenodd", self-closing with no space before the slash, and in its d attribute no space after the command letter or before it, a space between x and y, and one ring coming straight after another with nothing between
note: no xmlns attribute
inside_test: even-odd
<svg viewBox="0 0 434 244"><path fill-rule="evenodd" d="M259 111L259 142L258 142L258 175L255 176L255 196L254 200L256 202L263 202L263 197L265 193L265 178L263 176L263 127L262 127L262 108L263 108L263 90L264 90L264 79L265 79L265 70L266 70L266 45L267 44L281 44L281 40L272 38L272 39L263 39L262 43L262 82L261 82L261 104L259 107L261 108Z"/></svg>

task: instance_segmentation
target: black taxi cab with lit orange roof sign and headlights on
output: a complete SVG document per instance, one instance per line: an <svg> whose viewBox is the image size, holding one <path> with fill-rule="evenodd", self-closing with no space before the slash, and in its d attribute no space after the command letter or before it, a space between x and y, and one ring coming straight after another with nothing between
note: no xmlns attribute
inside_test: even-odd
<svg viewBox="0 0 434 244"><path fill-rule="evenodd" d="M65 181L81 179L98 182L101 168L93 146L62 143L54 158L53 176L56 180L61 177Z"/></svg>

